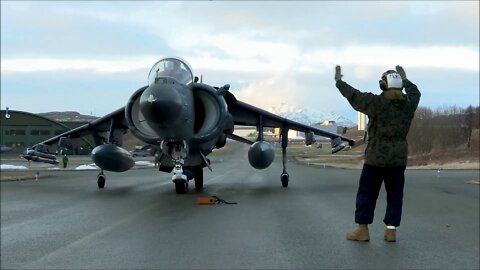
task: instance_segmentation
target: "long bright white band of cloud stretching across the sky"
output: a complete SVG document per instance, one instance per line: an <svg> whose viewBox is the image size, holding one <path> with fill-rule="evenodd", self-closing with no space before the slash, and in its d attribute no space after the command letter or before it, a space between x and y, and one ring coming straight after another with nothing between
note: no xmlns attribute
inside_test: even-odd
<svg viewBox="0 0 480 270"><path fill-rule="evenodd" d="M205 43L207 44L207 43ZM215 44L225 51L223 57L186 57L193 68L230 70L238 72L325 72L336 64L355 67L406 67L457 69L479 71L479 52L468 47L397 47L349 46L326 47L300 53L295 47L279 43L238 40L231 37L218 39ZM255 49L255 50L253 50ZM252 51L253 50L253 51ZM6 58L1 68L6 72L33 72L46 70L91 70L96 72L125 72L150 67L158 57L136 55L119 59L61 59L61 58ZM362 75L360 75L362 76Z"/></svg>

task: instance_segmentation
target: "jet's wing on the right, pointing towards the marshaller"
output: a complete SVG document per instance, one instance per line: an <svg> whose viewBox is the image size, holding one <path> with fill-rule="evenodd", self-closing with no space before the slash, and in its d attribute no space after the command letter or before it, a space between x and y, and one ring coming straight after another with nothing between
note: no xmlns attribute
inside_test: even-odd
<svg viewBox="0 0 480 270"><path fill-rule="evenodd" d="M342 141L348 142L350 146L355 145L355 141L350 138L283 118L281 116L267 112L245 102L236 100L233 95L226 97L226 100L229 106L228 110L233 116L233 121L235 125L258 126L259 122L262 121L263 127L287 128L305 133L313 132L315 135L327 137L332 140L338 140L340 138Z"/></svg>

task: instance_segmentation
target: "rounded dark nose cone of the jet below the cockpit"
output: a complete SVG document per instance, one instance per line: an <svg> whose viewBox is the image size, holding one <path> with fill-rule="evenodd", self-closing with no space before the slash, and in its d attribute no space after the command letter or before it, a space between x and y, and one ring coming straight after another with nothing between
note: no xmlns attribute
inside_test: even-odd
<svg viewBox="0 0 480 270"><path fill-rule="evenodd" d="M151 85L140 97L140 110L145 119L169 126L175 122L182 110L183 98L172 85Z"/></svg>

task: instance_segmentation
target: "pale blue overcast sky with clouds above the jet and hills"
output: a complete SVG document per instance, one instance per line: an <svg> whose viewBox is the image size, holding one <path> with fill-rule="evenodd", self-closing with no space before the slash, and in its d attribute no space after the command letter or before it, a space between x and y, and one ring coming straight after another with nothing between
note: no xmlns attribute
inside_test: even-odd
<svg viewBox="0 0 480 270"><path fill-rule="evenodd" d="M105 115L180 56L238 99L356 120L333 80L380 93L400 64L420 106L479 105L478 1L1 1L1 108Z"/></svg>

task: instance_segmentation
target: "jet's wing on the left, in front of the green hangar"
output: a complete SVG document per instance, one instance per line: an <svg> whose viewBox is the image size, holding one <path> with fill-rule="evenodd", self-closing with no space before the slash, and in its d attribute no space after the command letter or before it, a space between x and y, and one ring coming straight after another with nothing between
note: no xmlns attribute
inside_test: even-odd
<svg viewBox="0 0 480 270"><path fill-rule="evenodd" d="M112 125L112 120L116 129L128 129L125 123L125 107L122 107L88 124L79 126L48 140L40 142L37 145L43 144L46 146L53 146L59 143L60 138L77 139L89 134L98 135L103 132L108 132ZM35 148L37 145L35 145L33 148Z"/></svg>

